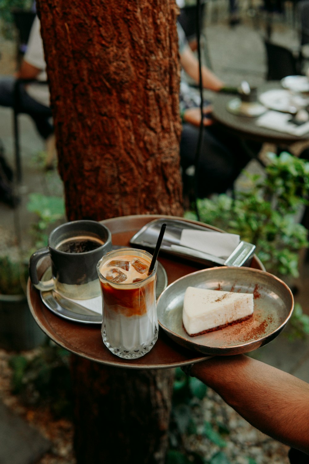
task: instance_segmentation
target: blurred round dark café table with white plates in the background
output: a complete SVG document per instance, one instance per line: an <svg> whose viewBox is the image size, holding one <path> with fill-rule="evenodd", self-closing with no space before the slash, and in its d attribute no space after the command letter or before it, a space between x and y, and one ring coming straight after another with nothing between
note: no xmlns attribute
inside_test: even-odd
<svg viewBox="0 0 309 464"><path fill-rule="evenodd" d="M269 81L257 88L257 95L267 90L283 89L280 81ZM309 132L304 135L292 135L273 129L259 127L256 124L258 117L240 116L227 110L227 104L235 96L226 93L217 93L213 97L212 115L216 122L220 122L233 135L244 141L268 142L276 146L291 145L295 142L309 141Z"/></svg>

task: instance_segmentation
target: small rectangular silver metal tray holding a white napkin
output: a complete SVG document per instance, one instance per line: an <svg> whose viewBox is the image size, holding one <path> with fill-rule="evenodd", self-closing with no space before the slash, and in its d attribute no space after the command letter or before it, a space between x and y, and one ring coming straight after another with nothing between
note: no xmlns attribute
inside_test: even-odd
<svg viewBox="0 0 309 464"><path fill-rule="evenodd" d="M164 238L161 245L161 250L179 258L185 258L195 263L205 264L206 267L218 265L224 266L250 266L252 257L255 251L255 245L240 241L240 244L235 248L231 255L226 259L217 258L215 256L206 255L205 258L194 256L195 250L183 247L183 251L176 251L171 248L171 245L180 246L180 237L183 229L202 230L214 232L207 226L199 226L198 224L181 221L178 219L155 219L137 232L130 240L131 245L140 248L141 246L154 249L158 240L159 232L162 224L166 224ZM220 232L219 232L220 233ZM199 252L196 253L200 254Z"/></svg>

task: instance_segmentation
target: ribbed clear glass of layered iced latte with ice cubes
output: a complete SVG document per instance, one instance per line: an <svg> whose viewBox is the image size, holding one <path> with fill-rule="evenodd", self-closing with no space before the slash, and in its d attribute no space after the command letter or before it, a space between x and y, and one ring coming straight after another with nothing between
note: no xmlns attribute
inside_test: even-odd
<svg viewBox="0 0 309 464"><path fill-rule="evenodd" d="M158 339L156 274L151 254L135 248L110 251L97 264L103 300L102 338L120 358L144 356Z"/></svg>

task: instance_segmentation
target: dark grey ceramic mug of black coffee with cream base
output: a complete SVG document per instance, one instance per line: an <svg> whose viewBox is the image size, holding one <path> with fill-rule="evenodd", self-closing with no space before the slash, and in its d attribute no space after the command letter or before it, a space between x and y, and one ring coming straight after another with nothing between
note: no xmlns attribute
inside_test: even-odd
<svg viewBox="0 0 309 464"><path fill-rule="evenodd" d="M63 296L86 300L101 294L96 271L98 261L112 250L107 227L90 220L72 221L54 229L48 246L35 251L29 262L29 275L38 290L56 290ZM38 278L38 262L50 256L52 278Z"/></svg>

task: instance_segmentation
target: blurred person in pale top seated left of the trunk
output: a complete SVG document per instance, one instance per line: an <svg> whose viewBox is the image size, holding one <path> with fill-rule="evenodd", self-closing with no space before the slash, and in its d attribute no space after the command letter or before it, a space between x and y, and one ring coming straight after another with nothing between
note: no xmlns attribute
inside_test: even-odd
<svg viewBox="0 0 309 464"><path fill-rule="evenodd" d="M16 82L19 79L21 82L16 87ZM25 113L32 117L38 133L45 141L46 167L51 168L56 148L54 128L50 122L50 93L46 79L40 22L36 16L19 71L15 76L0 77L0 105L14 108L16 100L18 100L19 113ZM33 80L33 82L22 82L22 80Z"/></svg>

